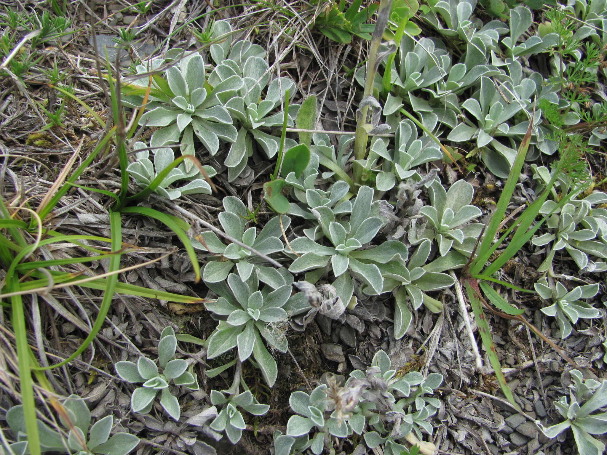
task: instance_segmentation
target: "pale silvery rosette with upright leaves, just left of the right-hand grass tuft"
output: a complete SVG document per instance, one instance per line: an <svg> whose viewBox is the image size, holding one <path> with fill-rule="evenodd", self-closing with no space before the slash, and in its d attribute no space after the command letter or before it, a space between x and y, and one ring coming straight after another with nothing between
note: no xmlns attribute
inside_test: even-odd
<svg viewBox="0 0 607 455"><path fill-rule="evenodd" d="M452 248L470 255L482 226L478 223L466 227L463 225L483 214L481 209L470 205L474 197L472 184L458 180L445 191L439 180L433 180L428 191L430 205L422 207L420 211L427 220L426 226L419 223L419 220L413 220L409 229L409 241L413 245L426 238L436 241L441 256Z"/></svg>

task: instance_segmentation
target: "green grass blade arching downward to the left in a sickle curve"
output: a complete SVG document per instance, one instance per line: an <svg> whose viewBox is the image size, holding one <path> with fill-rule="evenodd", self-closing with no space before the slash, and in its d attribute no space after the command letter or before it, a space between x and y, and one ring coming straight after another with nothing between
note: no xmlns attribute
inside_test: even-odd
<svg viewBox="0 0 607 455"><path fill-rule="evenodd" d="M122 225L120 220L120 213L110 211L110 229L112 231L112 251L118 251L122 245ZM110 257L108 271L113 272L120 269L120 257L120 253L112 255L112 257ZM84 349L88 348L90 343L92 343L95 337L97 337L97 334L101 330L101 326L103 326L103 323L106 320L106 315L110 309L112 298L114 298L114 294L116 292L116 283L118 282L118 274L109 275L109 277L107 277L105 281L106 288L103 292L103 300L101 300L99 314L97 315L97 319L95 319L93 327L90 329L90 333L87 335L82 345L80 345L80 348L76 349L76 351L66 360L63 360L63 362L55 363L55 365L45 367L38 366L35 367L36 369L53 369L58 368L59 366L66 365L66 363L71 362L73 359L80 356Z"/></svg>

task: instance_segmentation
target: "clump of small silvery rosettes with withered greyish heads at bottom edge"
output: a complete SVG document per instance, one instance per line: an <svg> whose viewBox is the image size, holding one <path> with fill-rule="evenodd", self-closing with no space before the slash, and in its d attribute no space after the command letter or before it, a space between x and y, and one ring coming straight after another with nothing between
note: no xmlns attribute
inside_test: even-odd
<svg viewBox="0 0 607 455"><path fill-rule="evenodd" d="M424 395L433 393L442 380L436 373L426 380L419 372L401 377L387 354L378 351L366 372L354 370L345 386L333 387L331 394L324 384L309 395L300 391L291 394L289 403L296 415L290 417L285 435L275 435L276 453L285 455L292 448L303 451L309 447L318 455L331 436L343 438L356 433L364 434L368 447L383 445L385 453L398 454L396 449L404 446L395 440L411 431L421 437L419 427L432 434L426 419L436 413L440 401ZM312 439L311 432L315 433Z"/></svg>

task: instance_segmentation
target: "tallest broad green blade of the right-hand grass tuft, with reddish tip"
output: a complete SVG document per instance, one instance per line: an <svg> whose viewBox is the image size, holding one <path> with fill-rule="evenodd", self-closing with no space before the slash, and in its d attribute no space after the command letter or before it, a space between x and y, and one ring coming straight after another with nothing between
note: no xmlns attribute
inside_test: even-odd
<svg viewBox="0 0 607 455"><path fill-rule="evenodd" d="M508 180L506 180L506 184L501 192L500 199L497 201L497 206L495 207L495 211L493 211L491 220L489 221L489 226L487 226L485 231L483 241L481 241L478 251L476 252L476 259L470 263L469 271L472 275L479 274L487 260L489 260L490 254L487 255L487 252L491 248L493 239L500 228L501 221L504 218L504 214L506 213L506 209L510 199L512 198L512 194L514 193L514 189L517 186L518 178L521 175L521 169L523 169L525 157L527 156L527 150L529 149L529 143L531 142L532 126L533 115L529 121L529 128L527 128L527 132L525 133L523 140L518 147L517 155L514 158L514 164L512 164L512 169L510 169ZM488 273L487 275L491 274Z"/></svg>

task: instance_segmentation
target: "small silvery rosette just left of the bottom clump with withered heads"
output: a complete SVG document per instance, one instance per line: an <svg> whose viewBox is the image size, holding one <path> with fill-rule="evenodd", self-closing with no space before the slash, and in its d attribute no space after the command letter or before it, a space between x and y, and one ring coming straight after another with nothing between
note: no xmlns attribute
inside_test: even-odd
<svg viewBox="0 0 607 455"><path fill-rule="evenodd" d="M239 442L240 437L242 437L242 430L246 428L245 419L243 419L238 408L242 408L254 416L263 416L270 409L268 405L259 404L251 391L248 390L228 397L217 390L211 390L211 403L215 406L223 406L223 408L209 426L212 430L220 433L225 431L232 444Z"/></svg>

